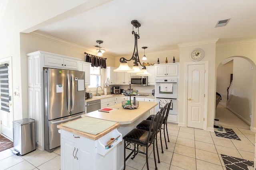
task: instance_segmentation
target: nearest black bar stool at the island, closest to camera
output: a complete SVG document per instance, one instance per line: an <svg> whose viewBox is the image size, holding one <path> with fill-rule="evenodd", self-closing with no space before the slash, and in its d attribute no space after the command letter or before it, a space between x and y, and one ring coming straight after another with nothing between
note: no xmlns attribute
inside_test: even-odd
<svg viewBox="0 0 256 170"><path fill-rule="evenodd" d="M156 116L150 121L150 127L149 131L145 131L142 129L132 129L129 133L127 133L123 139L124 139L124 170L125 170L125 164L126 160L134 153L133 157L131 159L134 159L136 154L142 153L146 154L146 164L148 167L148 147L153 144L153 152L154 152L154 161L155 161L155 167L156 166L156 154L155 154L155 138L156 138L156 131L158 131L159 122L160 122L160 111L156 113ZM131 145L134 146L134 149L132 149ZM139 145L146 147L146 153L139 150ZM126 149L132 150L132 152L126 157Z"/></svg>

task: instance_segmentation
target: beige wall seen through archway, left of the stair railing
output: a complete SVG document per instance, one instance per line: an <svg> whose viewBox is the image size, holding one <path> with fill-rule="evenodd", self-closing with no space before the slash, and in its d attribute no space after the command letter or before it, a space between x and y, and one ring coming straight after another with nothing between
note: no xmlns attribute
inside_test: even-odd
<svg viewBox="0 0 256 170"><path fill-rule="evenodd" d="M233 60L222 65L219 64L217 68L217 79L216 79L216 92L221 95L221 103L226 104L227 102L227 88L230 85L230 74L233 73Z"/></svg>

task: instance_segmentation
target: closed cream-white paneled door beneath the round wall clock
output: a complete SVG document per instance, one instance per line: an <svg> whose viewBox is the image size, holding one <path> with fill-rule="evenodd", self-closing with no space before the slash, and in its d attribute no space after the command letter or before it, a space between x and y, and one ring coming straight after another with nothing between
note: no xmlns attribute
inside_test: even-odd
<svg viewBox="0 0 256 170"><path fill-rule="evenodd" d="M187 126L204 129L205 64L188 65Z"/></svg>

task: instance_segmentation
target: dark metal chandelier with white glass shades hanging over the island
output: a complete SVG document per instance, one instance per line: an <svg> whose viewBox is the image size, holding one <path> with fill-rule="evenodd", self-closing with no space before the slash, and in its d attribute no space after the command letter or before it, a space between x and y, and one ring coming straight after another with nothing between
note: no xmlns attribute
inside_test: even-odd
<svg viewBox="0 0 256 170"><path fill-rule="evenodd" d="M147 72L146 66L143 66L140 63L140 58L139 58L139 54L138 54L138 39L140 39L139 27L141 25L137 20L132 20L131 23L133 25L132 34L134 35L134 41L135 41L132 57L130 59L125 59L124 57L121 57L120 65L114 71L115 72L137 73L138 75L142 75L142 76L150 76L151 74ZM138 28L138 34L137 34L137 32L134 31L134 27L135 27L135 29ZM144 49L144 55L145 55L145 49ZM132 68L130 68L127 64L127 61L132 61L132 60L134 60L134 62L133 62L134 65ZM140 70L139 64L140 64L140 66L143 66L142 70Z"/></svg>

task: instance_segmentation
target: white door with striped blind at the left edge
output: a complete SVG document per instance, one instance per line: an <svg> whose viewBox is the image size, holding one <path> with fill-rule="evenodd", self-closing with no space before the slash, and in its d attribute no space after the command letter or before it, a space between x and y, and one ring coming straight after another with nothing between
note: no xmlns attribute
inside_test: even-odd
<svg viewBox="0 0 256 170"><path fill-rule="evenodd" d="M8 72L4 73L8 75L8 88L6 88L7 92L2 90L1 91L1 98L4 99L6 98L8 101L7 102L2 102L2 105L0 106L9 106L9 111L6 111L4 107L0 109L0 119L1 119L1 125L0 125L0 133L6 135L10 139L13 139L13 134L12 134L12 121L13 121L13 108L12 108L12 101L13 101L13 96L12 96L12 61L11 57L1 59L0 64L8 64ZM1 77L0 77L1 78ZM2 80L6 78L1 78ZM6 84L5 82L1 82L1 85ZM4 94L8 94L7 96L4 96Z"/></svg>

